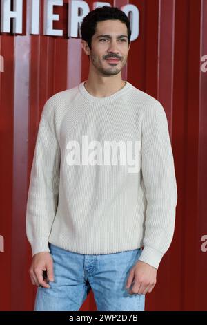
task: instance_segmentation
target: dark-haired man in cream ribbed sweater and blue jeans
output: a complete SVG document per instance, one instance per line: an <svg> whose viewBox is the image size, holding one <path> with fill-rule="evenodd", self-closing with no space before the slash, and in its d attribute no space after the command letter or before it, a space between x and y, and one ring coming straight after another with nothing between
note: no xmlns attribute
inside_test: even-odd
<svg viewBox="0 0 207 325"><path fill-rule="evenodd" d="M144 310L172 241L168 122L155 98L121 79L130 35L118 8L89 12L88 80L43 107L26 214L34 310L79 310L91 288L98 310Z"/></svg>

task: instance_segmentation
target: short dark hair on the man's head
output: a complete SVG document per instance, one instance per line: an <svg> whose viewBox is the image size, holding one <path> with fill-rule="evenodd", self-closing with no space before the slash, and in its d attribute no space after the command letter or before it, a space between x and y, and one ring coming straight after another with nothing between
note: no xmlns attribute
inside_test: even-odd
<svg viewBox="0 0 207 325"><path fill-rule="evenodd" d="M97 22L103 20L117 20L119 19L124 24L126 24L128 30L128 44L130 44L131 38L131 28L130 21L124 11L120 10L117 7L103 6L98 7L95 10L88 12L83 18L81 23L81 38L88 43L89 48L91 49L91 39L96 32Z"/></svg>

